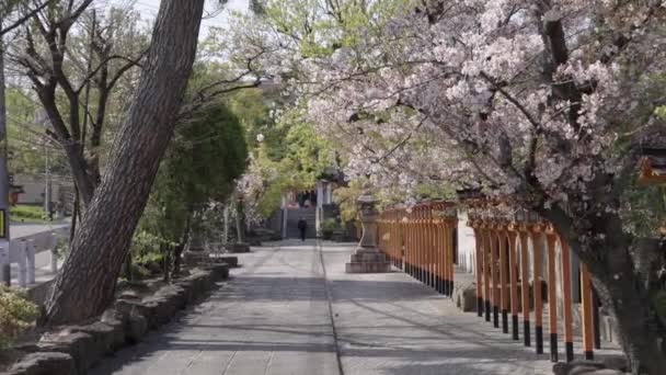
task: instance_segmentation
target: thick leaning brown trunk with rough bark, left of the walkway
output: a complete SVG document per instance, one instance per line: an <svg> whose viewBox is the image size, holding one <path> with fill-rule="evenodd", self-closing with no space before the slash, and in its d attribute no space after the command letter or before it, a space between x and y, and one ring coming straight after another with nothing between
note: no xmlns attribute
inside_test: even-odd
<svg viewBox="0 0 666 375"><path fill-rule="evenodd" d="M194 63L204 0L164 0L127 121L46 303L49 325L100 315L173 135Z"/></svg>

